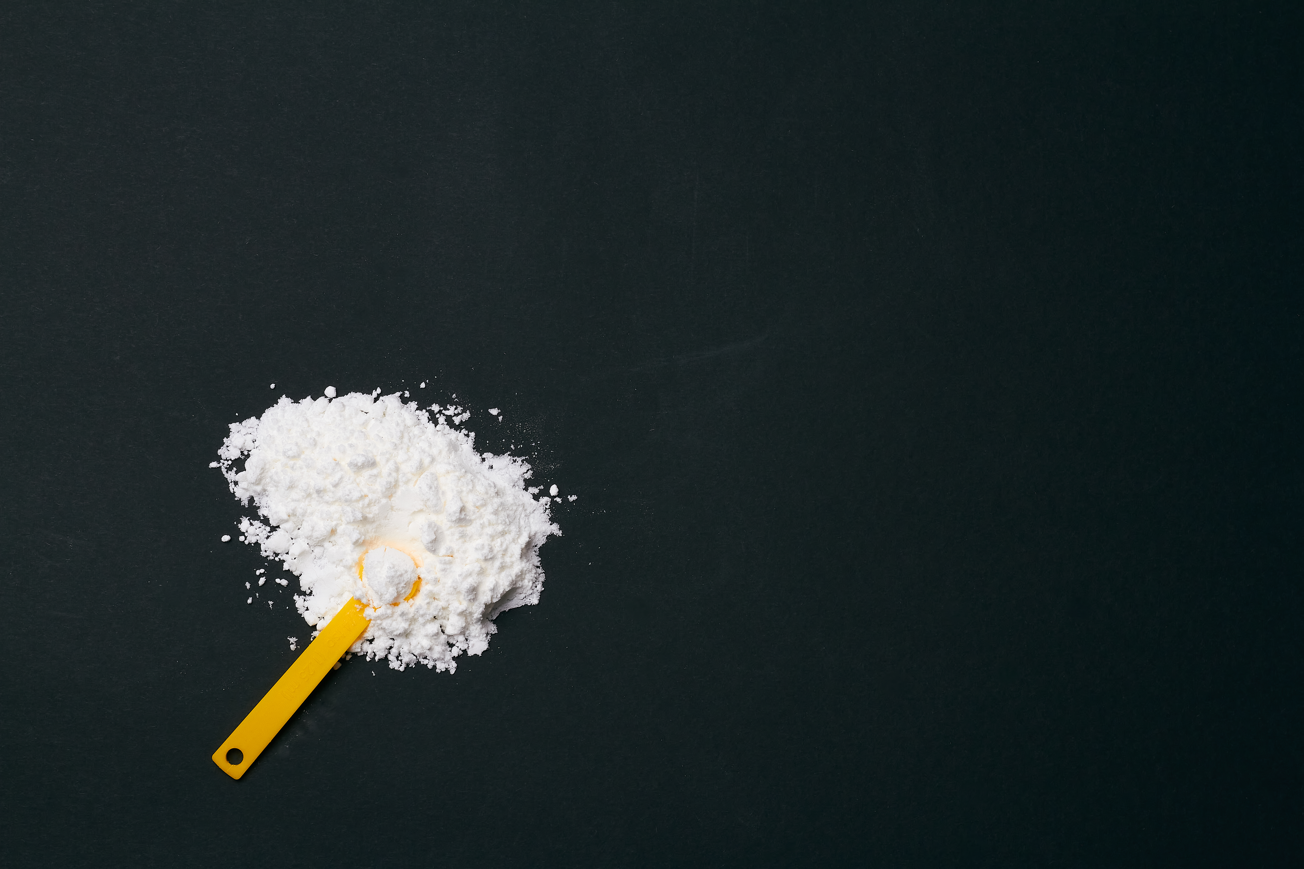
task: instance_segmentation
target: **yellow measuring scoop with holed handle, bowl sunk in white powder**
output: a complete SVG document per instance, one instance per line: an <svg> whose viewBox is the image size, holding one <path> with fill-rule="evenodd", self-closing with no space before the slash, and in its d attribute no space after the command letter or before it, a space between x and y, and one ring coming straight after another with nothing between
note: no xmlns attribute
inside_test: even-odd
<svg viewBox="0 0 1304 869"><path fill-rule="evenodd" d="M359 576L363 575L363 562L357 564ZM411 601L421 590L421 577L416 578L412 590L404 601ZM398 606L395 601L390 606ZM213 753L213 762L223 773L233 779L240 778L254 762L262 749L267 748L271 739L280 732L289 717L295 714L313 688L326 677L331 667L348 651L349 646L357 642L370 619L363 615L366 605L357 598L349 598L335 618L322 628L317 638L308 644L304 653L295 663L289 664L286 675L276 680L253 711L245 715L240 726L235 728L227 741Z"/></svg>

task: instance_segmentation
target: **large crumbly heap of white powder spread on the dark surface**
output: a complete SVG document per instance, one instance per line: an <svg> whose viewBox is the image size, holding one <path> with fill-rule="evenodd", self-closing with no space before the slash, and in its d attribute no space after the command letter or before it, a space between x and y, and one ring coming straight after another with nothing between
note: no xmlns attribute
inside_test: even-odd
<svg viewBox="0 0 1304 869"><path fill-rule="evenodd" d="M539 547L561 530L526 489L526 461L477 453L475 434L447 425L462 408L436 405L436 422L378 393L282 397L231 425L222 473L266 520L241 519L241 539L299 577L308 624L353 597L372 620L355 653L452 672L489 646L499 612L539 602Z"/></svg>

